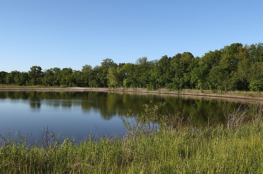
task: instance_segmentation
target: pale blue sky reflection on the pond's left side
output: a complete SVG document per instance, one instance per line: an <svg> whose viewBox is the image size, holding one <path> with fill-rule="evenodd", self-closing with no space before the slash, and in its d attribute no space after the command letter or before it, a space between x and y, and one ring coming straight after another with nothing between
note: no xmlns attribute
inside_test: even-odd
<svg viewBox="0 0 263 174"><path fill-rule="evenodd" d="M41 132L49 126L55 134L61 133L60 137L75 137L77 140L84 139L89 134L121 135L125 129L118 116L110 120L101 117L98 109L90 108L82 111L80 101L69 104L68 101L32 101L0 99L0 134L6 137L8 129L12 138L17 131L21 134L32 133L28 138L29 143L34 139L41 139Z"/></svg>

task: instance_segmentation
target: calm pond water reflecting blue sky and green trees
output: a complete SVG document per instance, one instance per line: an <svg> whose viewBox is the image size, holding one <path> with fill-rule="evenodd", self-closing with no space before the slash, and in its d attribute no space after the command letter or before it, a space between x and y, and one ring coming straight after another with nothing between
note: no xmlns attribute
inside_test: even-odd
<svg viewBox="0 0 263 174"><path fill-rule="evenodd" d="M49 126L55 135L83 140L92 135L123 135L125 127L120 116L126 117L128 109L134 113L144 110L150 101L166 102L166 113L184 111L200 123L217 118L223 121L222 106L230 110L237 101L221 101L200 97L156 95L116 92L0 92L0 135L11 138L28 134L28 142L39 143L41 133ZM195 112L194 112L195 111ZM128 119L128 118L127 118Z"/></svg>

